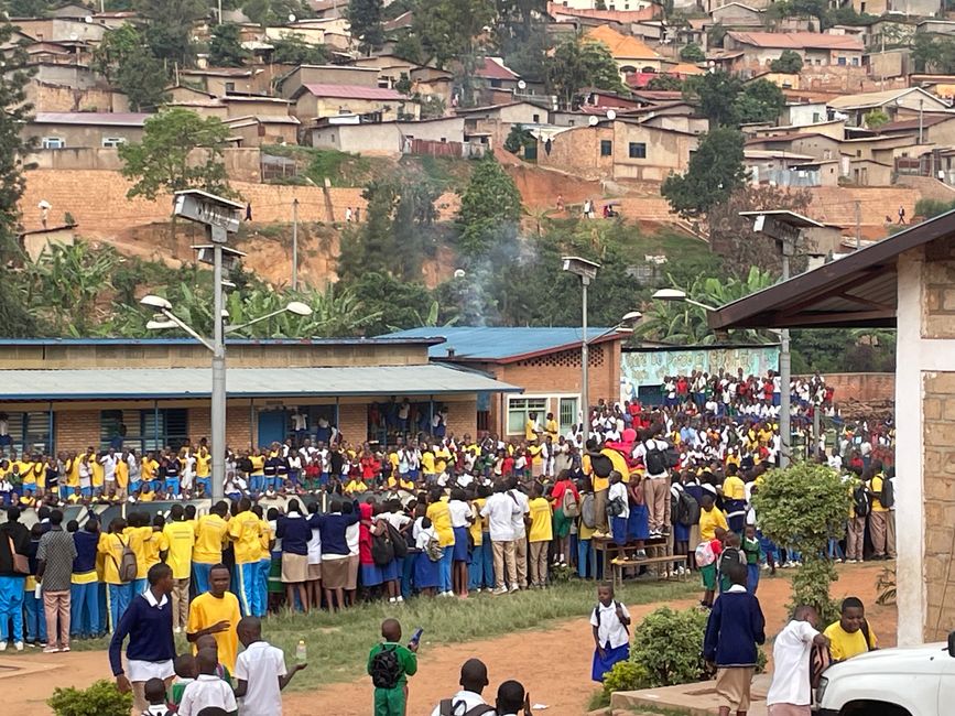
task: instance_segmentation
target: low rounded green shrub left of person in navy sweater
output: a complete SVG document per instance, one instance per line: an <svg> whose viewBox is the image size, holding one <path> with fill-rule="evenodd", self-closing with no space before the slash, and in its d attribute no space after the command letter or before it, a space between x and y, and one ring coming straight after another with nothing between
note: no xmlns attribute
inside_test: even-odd
<svg viewBox="0 0 955 716"><path fill-rule="evenodd" d="M645 687L699 681L704 673L703 634L706 614L661 607L647 615L633 632L630 660L647 670Z"/></svg>

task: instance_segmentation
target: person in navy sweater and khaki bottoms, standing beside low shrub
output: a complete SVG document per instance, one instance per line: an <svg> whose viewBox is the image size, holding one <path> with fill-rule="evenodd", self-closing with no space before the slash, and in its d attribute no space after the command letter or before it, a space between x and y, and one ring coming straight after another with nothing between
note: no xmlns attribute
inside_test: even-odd
<svg viewBox="0 0 955 716"><path fill-rule="evenodd" d="M726 569L732 586L719 595L703 639L703 657L716 666L719 716L749 709L749 691L756 671L757 644L766 642L766 619L756 596L746 590L746 565Z"/></svg>

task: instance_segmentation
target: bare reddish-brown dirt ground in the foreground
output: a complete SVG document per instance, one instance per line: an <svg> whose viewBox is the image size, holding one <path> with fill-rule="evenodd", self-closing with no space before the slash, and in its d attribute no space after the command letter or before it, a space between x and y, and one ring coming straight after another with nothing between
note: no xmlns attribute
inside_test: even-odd
<svg viewBox="0 0 955 716"><path fill-rule="evenodd" d="M859 596L868 607L869 621L879 637L880 646L889 647L896 641L897 616L894 607L875 604L876 576L881 568L879 564L842 566L833 595L836 598L849 594ZM766 612L768 634L774 634L785 621L789 581L764 579L760 584L759 597ZM669 606L685 608L694 604L687 600ZM636 621L658 606L631 607L630 612ZM490 675L491 683L486 696L492 696L501 681L517 679L530 691L532 703L547 706L546 710L540 713L579 716L586 712L590 695L596 690L589 679L592 655L593 641L585 618L555 622L545 630L521 631L466 644L423 644L417 675L410 681L408 713L409 716L430 714L438 701L457 691L460 664L471 657L478 657L488 665ZM4 674L10 666L47 669L36 673ZM106 652L101 651L46 655L4 653L0 655L3 713L47 716L50 709L44 702L56 686L85 686L108 676ZM371 710L371 681L363 675L361 665L357 665L355 676L352 683L286 694L284 714L367 716Z"/></svg>

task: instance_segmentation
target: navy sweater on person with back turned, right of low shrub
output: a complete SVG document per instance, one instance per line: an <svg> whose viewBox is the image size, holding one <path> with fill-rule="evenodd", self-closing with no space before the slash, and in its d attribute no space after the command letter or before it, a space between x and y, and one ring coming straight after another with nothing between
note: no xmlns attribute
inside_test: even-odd
<svg viewBox="0 0 955 716"><path fill-rule="evenodd" d="M766 643L759 599L746 592L719 595L703 639L703 655L719 668L756 666L756 644Z"/></svg>

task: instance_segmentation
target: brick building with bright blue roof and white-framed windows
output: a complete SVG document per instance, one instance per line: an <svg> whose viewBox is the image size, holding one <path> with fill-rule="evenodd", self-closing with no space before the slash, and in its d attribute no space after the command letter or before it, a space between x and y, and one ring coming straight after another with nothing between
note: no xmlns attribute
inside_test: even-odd
<svg viewBox="0 0 955 716"><path fill-rule="evenodd" d="M588 402L609 402L620 394L620 345L629 334L614 328L587 330ZM479 431L503 437L524 434L530 413L553 413L565 434L580 422L580 328L488 328L443 326L412 328L383 336L401 339L437 339L428 348L432 362L479 371L496 380L520 386L523 392L498 392L478 406Z"/></svg>

